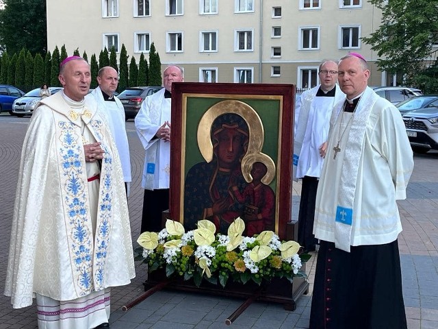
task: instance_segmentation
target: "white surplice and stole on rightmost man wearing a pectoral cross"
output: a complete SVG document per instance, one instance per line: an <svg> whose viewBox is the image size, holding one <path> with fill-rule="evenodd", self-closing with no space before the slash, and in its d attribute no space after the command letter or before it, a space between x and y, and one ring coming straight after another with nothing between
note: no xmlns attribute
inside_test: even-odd
<svg viewBox="0 0 438 329"><path fill-rule="evenodd" d="M413 153L400 112L371 88L361 96L348 127L352 114L343 113L343 106L344 101L337 104L331 117L313 234L348 252L350 245L381 245L397 239L402 226L396 200L406 198ZM368 115L361 117L365 112ZM345 128L341 151L334 159L333 147ZM335 222L338 206L352 208L351 226Z"/></svg>

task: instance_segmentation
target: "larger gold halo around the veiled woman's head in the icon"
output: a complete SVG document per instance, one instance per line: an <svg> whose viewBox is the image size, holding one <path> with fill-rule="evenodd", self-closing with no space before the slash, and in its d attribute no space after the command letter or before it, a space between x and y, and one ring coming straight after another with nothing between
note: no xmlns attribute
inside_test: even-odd
<svg viewBox="0 0 438 329"><path fill-rule="evenodd" d="M214 106L211 106L211 108L204 113L203 117L201 117L201 121L199 121L198 124L198 147L203 158L207 162L211 162L214 156L213 144L211 143L210 136L211 125L213 125L213 121L217 117L226 113L235 113L240 115L240 117L246 121L246 125L248 125L250 138L248 141L248 149L246 150L246 154L259 153L261 151L261 147L263 146L264 131L259 114L257 114L253 108L243 101L227 99L214 104Z"/></svg>

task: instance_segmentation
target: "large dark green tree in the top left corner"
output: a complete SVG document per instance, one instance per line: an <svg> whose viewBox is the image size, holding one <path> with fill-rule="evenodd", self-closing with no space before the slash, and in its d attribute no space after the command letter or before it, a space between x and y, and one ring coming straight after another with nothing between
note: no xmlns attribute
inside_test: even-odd
<svg viewBox="0 0 438 329"><path fill-rule="evenodd" d="M8 53L23 47L32 54L47 51L46 0L3 0L0 40Z"/></svg>

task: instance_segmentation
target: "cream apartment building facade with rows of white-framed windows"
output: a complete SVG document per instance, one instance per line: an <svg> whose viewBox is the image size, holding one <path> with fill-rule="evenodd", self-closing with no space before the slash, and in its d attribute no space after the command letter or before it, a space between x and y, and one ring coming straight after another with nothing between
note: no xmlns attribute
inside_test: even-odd
<svg viewBox="0 0 438 329"><path fill-rule="evenodd" d="M318 84L318 64L357 51L370 85L391 85L361 37L381 12L367 0L47 0L48 49L66 46L99 57L125 45L163 66L178 64L189 82Z"/></svg>

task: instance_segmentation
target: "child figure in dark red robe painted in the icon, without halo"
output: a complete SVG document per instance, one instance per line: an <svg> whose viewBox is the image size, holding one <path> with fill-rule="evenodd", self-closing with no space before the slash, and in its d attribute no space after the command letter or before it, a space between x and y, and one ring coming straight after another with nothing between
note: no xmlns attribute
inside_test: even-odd
<svg viewBox="0 0 438 329"><path fill-rule="evenodd" d="M261 179L268 172L262 162L254 162L250 171L253 181L240 193L237 186L231 187L235 199L245 205L243 219L246 223L246 235L253 236L264 230L274 229L275 194L269 185Z"/></svg>

